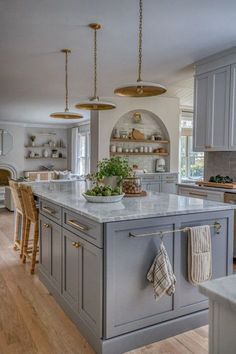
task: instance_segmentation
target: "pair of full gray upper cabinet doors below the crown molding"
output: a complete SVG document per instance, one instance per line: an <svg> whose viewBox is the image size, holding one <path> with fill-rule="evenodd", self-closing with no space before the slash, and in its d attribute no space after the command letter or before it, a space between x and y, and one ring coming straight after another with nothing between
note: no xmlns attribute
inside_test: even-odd
<svg viewBox="0 0 236 354"><path fill-rule="evenodd" d="M229 150L230 65L195 78L194 150Z"/></svg>

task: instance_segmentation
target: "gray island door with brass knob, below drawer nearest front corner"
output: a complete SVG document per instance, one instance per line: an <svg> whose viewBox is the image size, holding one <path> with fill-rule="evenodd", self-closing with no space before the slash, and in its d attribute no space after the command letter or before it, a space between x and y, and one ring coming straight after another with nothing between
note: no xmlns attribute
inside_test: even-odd
<svg viewBox="0 0 236 354"><path fill-rule="evenodd" d="M102 287L102 249L63 230L63 297L74 315L100 337Z"/></svg>

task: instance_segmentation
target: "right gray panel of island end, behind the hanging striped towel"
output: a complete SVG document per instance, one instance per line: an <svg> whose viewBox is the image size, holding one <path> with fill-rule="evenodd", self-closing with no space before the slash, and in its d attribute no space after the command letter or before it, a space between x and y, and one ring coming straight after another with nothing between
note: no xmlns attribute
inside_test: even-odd
<svg viewBox="0 0 236 354"><path fill-rule="evenodd" d="M191 217L193 218L193 216ZM231 272L229 263L232 260L229 257L232 247L231 241L227 235L230 234L230 225L227 218L215 219L207 218L199 220L199 217L195 221L183 222L180 224L180 228L198 226L198 225L213 225L215 221L220 222L221 230L217 234L215 229L211 227L211 241L212 241L212 279L220 278L228 275ZM182 314L192 311L198 311L208 307L207 298L200 294L198 287L192 285L188 281L188 233L181 232L176 237L176 250L179 250L180 254L180 272L177 273L177 294L175 305ZM230 251L231 248L231 251Z"/></svg>

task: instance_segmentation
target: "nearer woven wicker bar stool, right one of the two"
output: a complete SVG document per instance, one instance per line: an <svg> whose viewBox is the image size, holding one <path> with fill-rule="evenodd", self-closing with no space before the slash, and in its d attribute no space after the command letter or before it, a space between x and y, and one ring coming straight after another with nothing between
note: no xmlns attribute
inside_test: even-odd
<svg viewBox="0 0 236 354"><path fill-rule="evenodd" d="M31 274L34 274L36 255L38 252L38 239L39 239L39 224L38 224L38 210L36 208L34 195L30 186L21 184L20 192L24 205L26 215L26 226L23 246L23 263L26 262L26 258L31 258ZM31 223L34 226L33 234L33 246L29 247L29 234Z"/></svg>

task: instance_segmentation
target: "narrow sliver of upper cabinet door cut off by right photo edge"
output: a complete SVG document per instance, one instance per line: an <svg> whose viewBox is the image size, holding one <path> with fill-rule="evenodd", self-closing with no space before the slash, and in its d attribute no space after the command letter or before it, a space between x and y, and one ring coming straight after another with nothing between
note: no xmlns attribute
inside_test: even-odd
<svg viewBox="0 0 236 354"><path fill-rule="evenodd" d="M231 65L229 150L236 150L236 64Z"/></svg>

